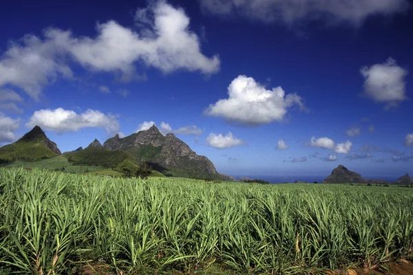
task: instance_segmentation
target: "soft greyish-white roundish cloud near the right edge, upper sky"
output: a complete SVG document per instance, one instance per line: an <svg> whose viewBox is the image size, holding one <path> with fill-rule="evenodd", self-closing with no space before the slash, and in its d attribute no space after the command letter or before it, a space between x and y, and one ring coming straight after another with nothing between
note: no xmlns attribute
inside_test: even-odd
<svg viewBox="0 0 413 275"><path fill-rule="evenodd" d="M392 58L383 64L363 67L364 94L376 102L387 102L387 107L394 107L406 100L405 76L407 70L399 67Z"/></svg>

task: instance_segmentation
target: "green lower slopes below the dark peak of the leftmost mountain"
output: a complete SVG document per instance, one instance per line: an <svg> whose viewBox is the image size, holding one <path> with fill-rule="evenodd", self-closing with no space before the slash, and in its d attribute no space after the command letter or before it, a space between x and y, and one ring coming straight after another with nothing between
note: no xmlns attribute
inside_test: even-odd
<svg viewBox="0 0 413 275"><path fill-rule="evenodd" d="M50 148L40 142L14 142L0 148L1 162L14 162L15 160L25 160L28 162L36 162L41 159L50 159L55 157Z"/></svg>

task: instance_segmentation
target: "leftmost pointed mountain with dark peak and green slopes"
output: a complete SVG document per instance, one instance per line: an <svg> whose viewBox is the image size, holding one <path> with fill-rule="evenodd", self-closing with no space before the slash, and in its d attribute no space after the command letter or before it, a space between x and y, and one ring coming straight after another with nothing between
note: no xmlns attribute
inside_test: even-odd
<svg viewBox="0 0 413 275"><path fill-rule="evenodd" d="M12 162L18 159L36 162L56 155L61 155L56 143L49 140L37 125L17 142L0 148L0 162Z"/></svg>

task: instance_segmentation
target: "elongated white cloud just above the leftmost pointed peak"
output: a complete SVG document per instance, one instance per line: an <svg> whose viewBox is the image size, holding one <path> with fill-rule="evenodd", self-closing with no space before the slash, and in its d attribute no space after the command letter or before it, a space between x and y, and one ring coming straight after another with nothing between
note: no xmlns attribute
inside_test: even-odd
<svg viewBox="0 0 413 275"><path fill-rule="evenodd" d="M116 120L114 115L105 115L100 111L92 109L88 109L85 113L80 114L62 108L35 111L26 126L33 127L35 125L39 125L47 131L54 131L57 133L98 127L103 128L107 133L112 134L117 133L120 128L118 120Z"/></svg>

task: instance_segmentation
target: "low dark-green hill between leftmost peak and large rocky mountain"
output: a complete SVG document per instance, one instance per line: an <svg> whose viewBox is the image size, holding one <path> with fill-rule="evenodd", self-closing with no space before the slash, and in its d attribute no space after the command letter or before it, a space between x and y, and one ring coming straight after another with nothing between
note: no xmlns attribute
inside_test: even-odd
<svg viewBox="0 0 413 275"><path fill-rule="evenodd" d="M103 148L89 147L82 151L63 154L73 165L103 166L115 168L129 155L122 151L109 151Z"/></svg>

